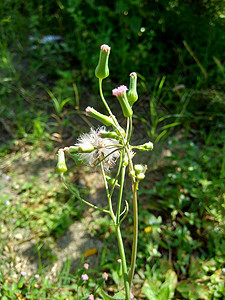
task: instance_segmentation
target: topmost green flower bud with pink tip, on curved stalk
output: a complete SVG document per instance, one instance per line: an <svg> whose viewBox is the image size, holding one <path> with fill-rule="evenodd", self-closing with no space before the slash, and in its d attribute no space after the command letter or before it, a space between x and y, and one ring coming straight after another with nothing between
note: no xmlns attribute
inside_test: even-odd
<svg viewBox="0 0 225 300"><path fill-rule="evenodd" d="M100 50L99 62L95 69L95 76L99 79L104 79L109 76L109 60L110 47L102 45Z"/></svg>

